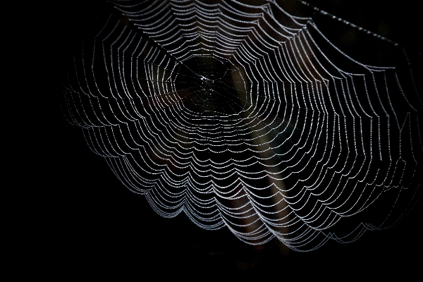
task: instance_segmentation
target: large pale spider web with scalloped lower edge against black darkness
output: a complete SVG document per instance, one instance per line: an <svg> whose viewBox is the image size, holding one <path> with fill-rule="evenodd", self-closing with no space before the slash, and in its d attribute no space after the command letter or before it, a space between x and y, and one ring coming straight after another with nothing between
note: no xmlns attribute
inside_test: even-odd
<svg viewBox="0 0 423 282"><path fill-rule="evenodd" d="M112 1L61 78L68 121L161 216L314 250L421 193L410 68L360 63L276 1Z"/></svg>

